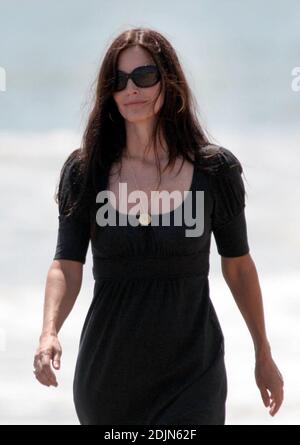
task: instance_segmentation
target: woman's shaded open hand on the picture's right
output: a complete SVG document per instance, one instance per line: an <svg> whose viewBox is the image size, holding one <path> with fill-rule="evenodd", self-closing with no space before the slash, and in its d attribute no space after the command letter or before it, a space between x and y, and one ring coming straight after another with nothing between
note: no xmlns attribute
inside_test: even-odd
<svg viewBox="0 0 300 445"><path fill-rule="evenodd" d="M255 380L264 405L266 407L270 406L269 413L274 416L283 402L284 381L271 354L256 359Z"/></svg>

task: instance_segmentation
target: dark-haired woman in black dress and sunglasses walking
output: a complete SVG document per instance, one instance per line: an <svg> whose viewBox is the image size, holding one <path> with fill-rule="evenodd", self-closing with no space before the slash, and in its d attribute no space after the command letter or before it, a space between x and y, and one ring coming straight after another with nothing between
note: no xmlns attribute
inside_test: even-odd
<svg viewBox="0 0 300 445"><path fill-rule="evenodd" d="M211 233L253 338L263 402L271 415L278 411L283 380L265 332L241 173L236 156L205 136L170 43L144 28L116 38L82 148L62 168L58 240L34 359L36 378L56 386L58 332L79 293L91 241L94 297L73 383L81 424L225 423L224 337L209 297ZM140 193L136 201L118 193L122 184ZM153 190L180 199L161 202ZM106 202L101 191L110 192ZM197 194L196 201L201 191L204 200ZM202 218L200 234L187 236L185 220L175 224L186 207ZM105 225L107 214L116 219Z"/></svg>

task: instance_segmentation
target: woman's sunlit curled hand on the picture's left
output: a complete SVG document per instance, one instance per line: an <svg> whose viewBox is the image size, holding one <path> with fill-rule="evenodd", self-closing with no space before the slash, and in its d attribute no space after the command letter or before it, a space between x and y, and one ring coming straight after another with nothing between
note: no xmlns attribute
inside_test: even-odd
<svg viewBox="0 0 300 445"><path fill-rule="evenodd" d="M51 362L54 369L60 368L60 357L62 348L54 334L42 334L40 336L39 346L34 356L34 371L37 380L45 386L57 386L56 376L51 368Z"/></svg>

